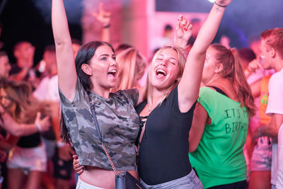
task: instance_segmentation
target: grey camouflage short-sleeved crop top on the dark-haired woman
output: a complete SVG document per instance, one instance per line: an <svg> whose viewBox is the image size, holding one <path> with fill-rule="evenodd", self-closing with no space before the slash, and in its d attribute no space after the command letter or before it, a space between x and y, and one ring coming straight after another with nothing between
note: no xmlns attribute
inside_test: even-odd
<svg viewBox="0 0 283 189"><path fill-rule="evenodd" d="M79 79L76 95L70 102L59 90L65 124L74 144L79 164L98 166L112 170L103 147L98 140L93 122L89 97ZM95 101L96 117L100 132L117 171L129 171L136 168L136 148L134 142L139 132L139 116L134 109L139 98L137 89L110 93L103 98L91 92Z"/></svg>

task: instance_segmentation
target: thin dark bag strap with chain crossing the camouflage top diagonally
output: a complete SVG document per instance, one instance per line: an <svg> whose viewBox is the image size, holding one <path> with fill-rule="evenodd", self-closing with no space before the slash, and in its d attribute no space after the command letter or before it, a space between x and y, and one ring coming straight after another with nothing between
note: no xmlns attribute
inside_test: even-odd
<svg viewBox="0 0 283 189"><path fill-rule="evenodd" d="M115 175L120 176L120 173L117 172L117 170L116 170L116 168L115 168L115 166L114 166L114 164L112 162L112 159L111 159L111 157L110 157L110 155L109 155L105 145L103 144L101 133L100 133L100 129L99 129L99 125L98 125L98 120L96 118L96 109L94 108L94 101L91 99L91 97L89 99L90 99L90 104L91 104L91 113L93 115L94 125L96 126L96 130L98 132L98 138L99 138L99 140L101 142L103 150L105 151L105 154L106 154L106 156L108 158L108 161L110 162L110 165L112 166L112 169L113 169Z"/></svg>

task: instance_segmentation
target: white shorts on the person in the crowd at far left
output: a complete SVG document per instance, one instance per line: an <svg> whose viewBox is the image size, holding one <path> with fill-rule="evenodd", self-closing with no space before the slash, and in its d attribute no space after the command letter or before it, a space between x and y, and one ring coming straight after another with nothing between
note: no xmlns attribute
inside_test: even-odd
<svg viewBox="0 0 283 189"><path fill-rule="evenodd" d="M45 145L42 143L34 148L13 147L8 154L7 167L21 168L25 174L29 171L45 172L47 168Z"/></svg>

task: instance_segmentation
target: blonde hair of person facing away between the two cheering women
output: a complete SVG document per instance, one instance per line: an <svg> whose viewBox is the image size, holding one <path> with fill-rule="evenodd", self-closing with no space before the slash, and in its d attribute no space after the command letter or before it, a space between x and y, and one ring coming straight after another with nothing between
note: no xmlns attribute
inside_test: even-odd
<svg viewBox="0 0 283 189"><path fill-rule="evenodd" d="M137 87L137 81L144 75L146 58L134 47L130 47L120 52L116 59L119 64L117 86L111 91Z"/></svg>

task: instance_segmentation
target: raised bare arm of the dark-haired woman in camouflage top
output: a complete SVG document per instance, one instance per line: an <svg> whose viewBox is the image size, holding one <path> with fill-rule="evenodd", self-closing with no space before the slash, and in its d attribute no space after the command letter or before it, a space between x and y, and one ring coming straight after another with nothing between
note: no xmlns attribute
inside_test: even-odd
<svg viewBox="0 0 283 189"><path fill-rule="evenodd" d="M52 30L56 46L59 88L69 101L73 101L77 74L67 16L62 0L52 0Z"/></svg>

